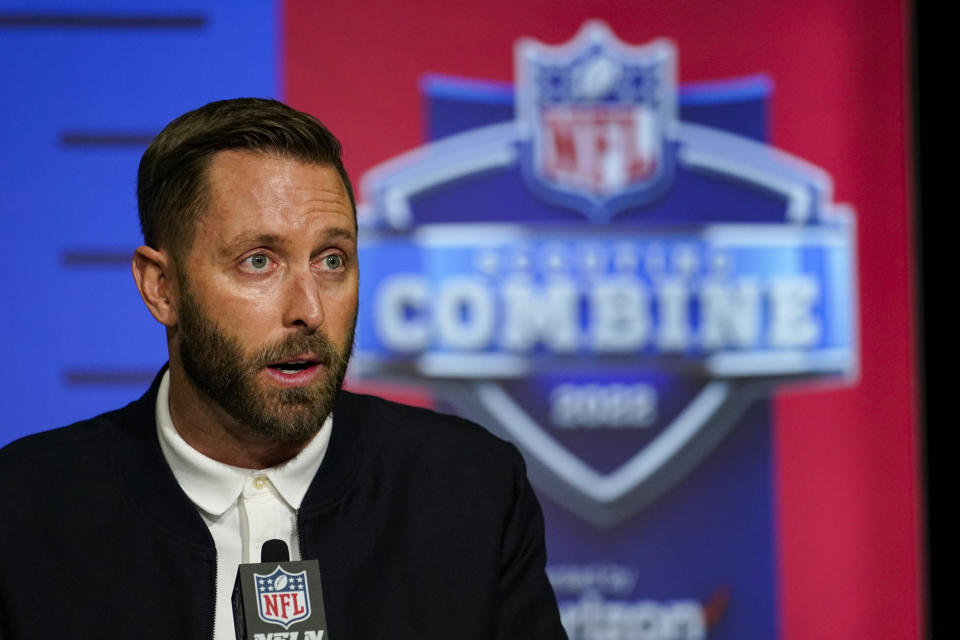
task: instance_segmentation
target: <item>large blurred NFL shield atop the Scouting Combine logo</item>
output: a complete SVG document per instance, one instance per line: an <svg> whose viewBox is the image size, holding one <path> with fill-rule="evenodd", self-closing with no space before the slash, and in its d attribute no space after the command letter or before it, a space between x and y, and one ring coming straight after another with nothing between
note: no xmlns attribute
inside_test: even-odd
<svg viewBox="0 0 960 640"><path fill-rule="evenodd" d="M607 222L654 198L673 174L676 53L635 47L601 22L561 46L517 47L517 120L528 186Z"/></svg>

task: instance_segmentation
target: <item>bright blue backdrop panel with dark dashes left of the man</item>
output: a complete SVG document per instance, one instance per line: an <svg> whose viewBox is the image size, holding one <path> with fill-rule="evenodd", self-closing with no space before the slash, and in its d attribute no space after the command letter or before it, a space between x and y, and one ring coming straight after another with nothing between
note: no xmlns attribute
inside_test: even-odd
<svg viewBox="0 0 960 640"><path fill-rule="evenodd" d="M166 359L129 258L150 138L275 96L272 2L0 2L0 445L138 396Z"/></svg>

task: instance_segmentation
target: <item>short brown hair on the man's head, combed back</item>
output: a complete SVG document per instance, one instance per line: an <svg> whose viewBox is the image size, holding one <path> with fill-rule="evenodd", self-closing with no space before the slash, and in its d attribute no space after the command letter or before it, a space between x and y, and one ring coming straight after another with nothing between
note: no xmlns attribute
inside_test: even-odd
<svg viewBox="0 0 960 640"><path fill-rule="evenodd" d="M356 220L342 147L323 123L276 100L236 98L188 111L164 127L143 153L137 207L145 244L167 248L175 257L189 251L195 223L207 206L207 168L214 154L228 149L334 167Z"/></svg>

